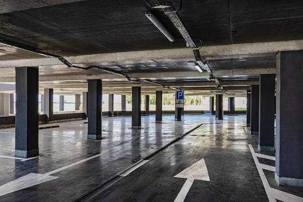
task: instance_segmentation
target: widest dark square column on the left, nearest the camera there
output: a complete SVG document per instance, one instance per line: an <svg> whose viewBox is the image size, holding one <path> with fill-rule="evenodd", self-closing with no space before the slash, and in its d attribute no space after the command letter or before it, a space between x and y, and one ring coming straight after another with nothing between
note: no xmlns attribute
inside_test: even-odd
<svg viewBox="0 0 303 202"><path fill-rule="evenodd" d="M16 67L15 155L39 155L38 68Z"/></svg>

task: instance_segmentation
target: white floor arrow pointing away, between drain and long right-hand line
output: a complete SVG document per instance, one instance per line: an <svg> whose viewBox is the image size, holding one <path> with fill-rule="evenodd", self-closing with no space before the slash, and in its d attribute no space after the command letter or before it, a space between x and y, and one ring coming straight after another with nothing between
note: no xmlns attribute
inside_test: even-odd
<svg viewBox="0 0 303 202"><path fill-rule="evenodd" d="M187 179L174 202L184 202L190 187L194 183L194 180L210 181L210 176L208 174L204 158L197 161L187 169L181 171L174 177Z"/></svg>

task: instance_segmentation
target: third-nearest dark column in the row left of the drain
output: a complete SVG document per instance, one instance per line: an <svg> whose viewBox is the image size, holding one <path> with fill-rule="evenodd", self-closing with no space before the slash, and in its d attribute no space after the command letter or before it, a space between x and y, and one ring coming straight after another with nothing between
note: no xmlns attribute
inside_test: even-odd
<svg viewBox="0 0 303 202"><path fill-rule="evenodd" d="M132 128L141 128L141 87L132 87Z"/></svg>

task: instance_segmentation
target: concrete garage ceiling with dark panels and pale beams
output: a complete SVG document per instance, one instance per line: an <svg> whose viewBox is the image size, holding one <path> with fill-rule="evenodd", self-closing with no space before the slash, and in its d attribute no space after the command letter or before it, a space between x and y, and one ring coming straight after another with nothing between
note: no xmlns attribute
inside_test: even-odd
<svg viewBox="0 0 303 202"><path fill-rule="evenodd" d="M180 7L180 0L172 2ZM175 42L145 16L148 10ZM0 82L14 83L16 66L35 66L41 92L85 92L87 79L96 78L105 93L129 94L132 86L141 86L143 94L173 91L98 69L68 68L56 57L35 53L39 50L76 66L97 65L185 93L242 96L258 84L259 74L275 74L279 51L303 49L302 0L183 0L178 15L192 39L202 41L201 58L210 61L224 92L206 79L207 72L196 70L193 51L163 10L144 0L1 0Z"/></svg>

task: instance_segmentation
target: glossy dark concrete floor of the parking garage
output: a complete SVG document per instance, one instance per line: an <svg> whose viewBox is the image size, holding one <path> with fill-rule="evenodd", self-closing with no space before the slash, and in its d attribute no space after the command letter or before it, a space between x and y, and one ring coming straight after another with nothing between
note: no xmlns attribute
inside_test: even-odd
<svg viewBox="0 0 303 202"><path fill-rule="evenodd" d="M0 130L0 202L75 202L117 176L119 181L91 201L301 202L303 197L301 187L276 186L274 153L255 160L258 136L249 134L245 115L224 120L185 115L181 122L163 116L162 124L142 116L141 129L131 129L131 117L107 117L102 140L87 140L83 120L59 125L39 130L40 155L32 159L10 158L15 128ZM260 165L268 165L261 169L267 183ZM187 168L185 176L176 176Z"/></svg>

